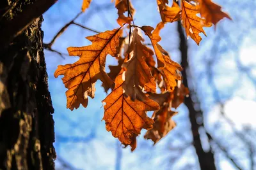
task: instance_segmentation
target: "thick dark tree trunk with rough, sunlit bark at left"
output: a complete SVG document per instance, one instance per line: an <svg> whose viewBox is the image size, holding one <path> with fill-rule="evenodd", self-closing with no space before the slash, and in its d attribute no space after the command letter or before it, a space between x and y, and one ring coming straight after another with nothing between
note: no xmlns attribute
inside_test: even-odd
<svg viewBox="0 0 256 170"><path fill-rule="evenodd" d="M0 16L15 1L1 0ZM20 0L0 29L35 0ZM42 17L0 47L0 169L54 169L54 121L43 52Z"/></svg>

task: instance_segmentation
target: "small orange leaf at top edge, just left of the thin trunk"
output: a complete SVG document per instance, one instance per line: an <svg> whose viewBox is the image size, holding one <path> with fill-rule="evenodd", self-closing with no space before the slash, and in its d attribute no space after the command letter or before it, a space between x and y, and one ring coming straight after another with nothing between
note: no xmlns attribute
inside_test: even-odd
<svg viewBox="0 0 256 170"><path fill-rule="evenodd" d="M166 5L168 1L157 0L157 5L163 22L175 22L180 20L180 6L173 1L172 7Z"/></svg>

